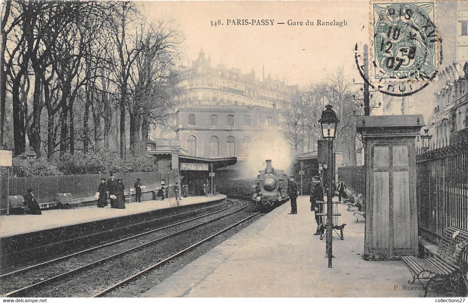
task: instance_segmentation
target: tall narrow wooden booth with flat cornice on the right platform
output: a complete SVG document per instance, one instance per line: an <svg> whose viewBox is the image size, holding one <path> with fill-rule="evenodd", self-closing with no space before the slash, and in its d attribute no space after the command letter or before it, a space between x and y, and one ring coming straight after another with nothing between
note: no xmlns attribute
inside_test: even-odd
<svg viewBox="0 0 468 303"><path fill-rule="evenodd" d="M365 144L364 259L417 255L415 138L422 115L356 117Z"/></svg>

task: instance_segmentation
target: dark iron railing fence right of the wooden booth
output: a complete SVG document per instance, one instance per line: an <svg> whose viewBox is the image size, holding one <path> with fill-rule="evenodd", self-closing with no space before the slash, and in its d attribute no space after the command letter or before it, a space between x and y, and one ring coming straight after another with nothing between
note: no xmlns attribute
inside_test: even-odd
<svg viewBox="0 0 468 303"><path fill-rule="evenodd" d="M417 155L419 235L439 243L449 226L468 232L468 140Z"/></svg>

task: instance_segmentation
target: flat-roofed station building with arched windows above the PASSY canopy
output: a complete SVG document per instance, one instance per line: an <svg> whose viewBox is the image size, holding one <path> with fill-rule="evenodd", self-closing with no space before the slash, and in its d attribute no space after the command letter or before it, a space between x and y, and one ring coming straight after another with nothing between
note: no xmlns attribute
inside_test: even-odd
<svg viewBox="0 0 468 303"><path fill-rule="evenodd" d="M278 131L281 110L250 105L194 105L176 112L176 136L189 156L245 161L261 136Z"/></svg>

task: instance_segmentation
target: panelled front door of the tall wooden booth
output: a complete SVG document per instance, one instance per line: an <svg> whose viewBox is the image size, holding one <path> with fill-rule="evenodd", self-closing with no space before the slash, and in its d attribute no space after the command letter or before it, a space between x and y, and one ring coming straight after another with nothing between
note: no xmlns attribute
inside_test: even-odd
<svg viewBox="0 0 468 303"><path fill-rule="evenodd" d="M372 247L382 253L411 248L410 174L406 142L373 144L371 160ZM390 250L390 251L388 251Z"/></svg>

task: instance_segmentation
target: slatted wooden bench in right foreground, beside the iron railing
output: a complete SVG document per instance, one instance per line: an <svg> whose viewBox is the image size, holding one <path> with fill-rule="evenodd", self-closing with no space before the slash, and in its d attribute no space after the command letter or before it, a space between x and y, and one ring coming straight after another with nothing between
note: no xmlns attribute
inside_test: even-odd
<svg viewBox="0 0 468 303"><path fill-rule="evenodd" d="M458 235L453 238L452 236L458 232ZM468 268L468 245L465 244L460 258L455 259L453 256L455 252L455 245L466 243L468 241L468 233L457 231L453 227L449 227L444 231L444 235L440 240L439 248L434 256L428 259L419 259L415 256L404 256L403 263L408 267L409 272L413 276L415 283L416 279L424 287L424 297L427 295L429 284L434 280L446 280L453 278L456 274L460 273L460 266L464 267L465 271ZM464 273L467 274L466 272ZM424 284L424 281L427 281ZM466 283L466 282L465 282Z"/></svg>

